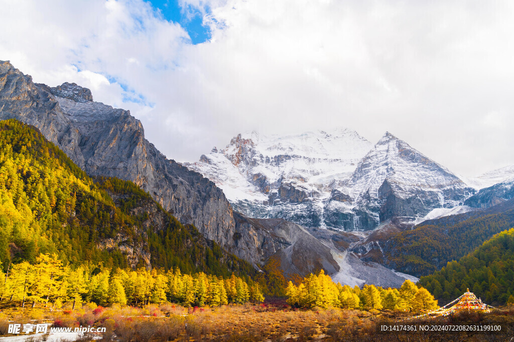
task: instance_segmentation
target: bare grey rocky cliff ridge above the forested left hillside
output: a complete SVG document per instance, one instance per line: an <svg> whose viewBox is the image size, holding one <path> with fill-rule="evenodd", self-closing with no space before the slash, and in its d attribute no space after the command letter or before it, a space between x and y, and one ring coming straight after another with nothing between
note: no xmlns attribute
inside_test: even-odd
<svg viewBox="0 0 514 342"><path fill-rule="evenodd" d="M34 84L0 62L0 119L7 118L38 128L90 175L132 180L182 223L235 252L235 220L223 192L164 157L130 112L93 102L91 92L75 84Z"/></svg>

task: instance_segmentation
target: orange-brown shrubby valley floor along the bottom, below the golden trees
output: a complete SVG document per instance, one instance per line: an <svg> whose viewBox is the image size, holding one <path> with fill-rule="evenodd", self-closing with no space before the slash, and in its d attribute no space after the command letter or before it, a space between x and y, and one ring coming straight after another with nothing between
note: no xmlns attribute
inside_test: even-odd
<svg viewBox="0 0 514 342"><path fill-rule="evenodd" d="M144 308L96 307L75 310L4 307L0 313L0 340L6 341L426 341L498 340L514 336L514 308L495 314L464 313L430 321L408 320L409 313L342 309L295 309L281 300L261 305L229 305L215 308L183 308L173 304ZM405 324L501 325L501 333L377 332L377 326ZM9 324L49 324L47 334L8 332ZM105 328L103 333L50 332L53 328Z"/></svg>

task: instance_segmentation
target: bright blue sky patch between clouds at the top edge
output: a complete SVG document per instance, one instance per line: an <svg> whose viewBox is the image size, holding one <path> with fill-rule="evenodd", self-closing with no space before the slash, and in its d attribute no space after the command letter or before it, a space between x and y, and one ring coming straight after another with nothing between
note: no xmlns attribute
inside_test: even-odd
<svg viewBox="0 0 514 342"><path fill-rule="evenodd" d="M159 9L164 19L178 23L191 37L193 44L200 44L211 38L209 27L203 25L203 13L194 6L182 8L178 0L150 0L155 9ZM209 8L205 9L209 11Z"/></svg>

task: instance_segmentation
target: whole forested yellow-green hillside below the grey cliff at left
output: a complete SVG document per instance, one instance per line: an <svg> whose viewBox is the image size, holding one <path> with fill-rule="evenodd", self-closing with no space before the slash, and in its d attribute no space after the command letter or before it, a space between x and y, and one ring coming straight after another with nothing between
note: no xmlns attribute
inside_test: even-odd
<svg viewBox="0 0 514 342"><path fill-rule="evenodd" d="M111 195L113 197L111 197ZM131 182L77 167L38 130L0 122L0 262L58 253L65 263L254 274Z"/></svg>

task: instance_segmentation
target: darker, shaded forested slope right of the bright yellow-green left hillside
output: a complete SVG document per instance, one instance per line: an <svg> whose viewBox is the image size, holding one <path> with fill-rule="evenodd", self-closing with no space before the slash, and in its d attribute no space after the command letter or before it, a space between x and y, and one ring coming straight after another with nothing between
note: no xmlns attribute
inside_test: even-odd
<svg viewBox="0 0 514 342"><path fill-rule="evenodd" d="M250 264L224 252L194 226L182 225L134 183L112 177L96 180L116 206L134 218L138 230L145 232L153 266L167 270L178 266L186 273L205 271L224 276L232 271L241 275L256 274Z"/></svg>

